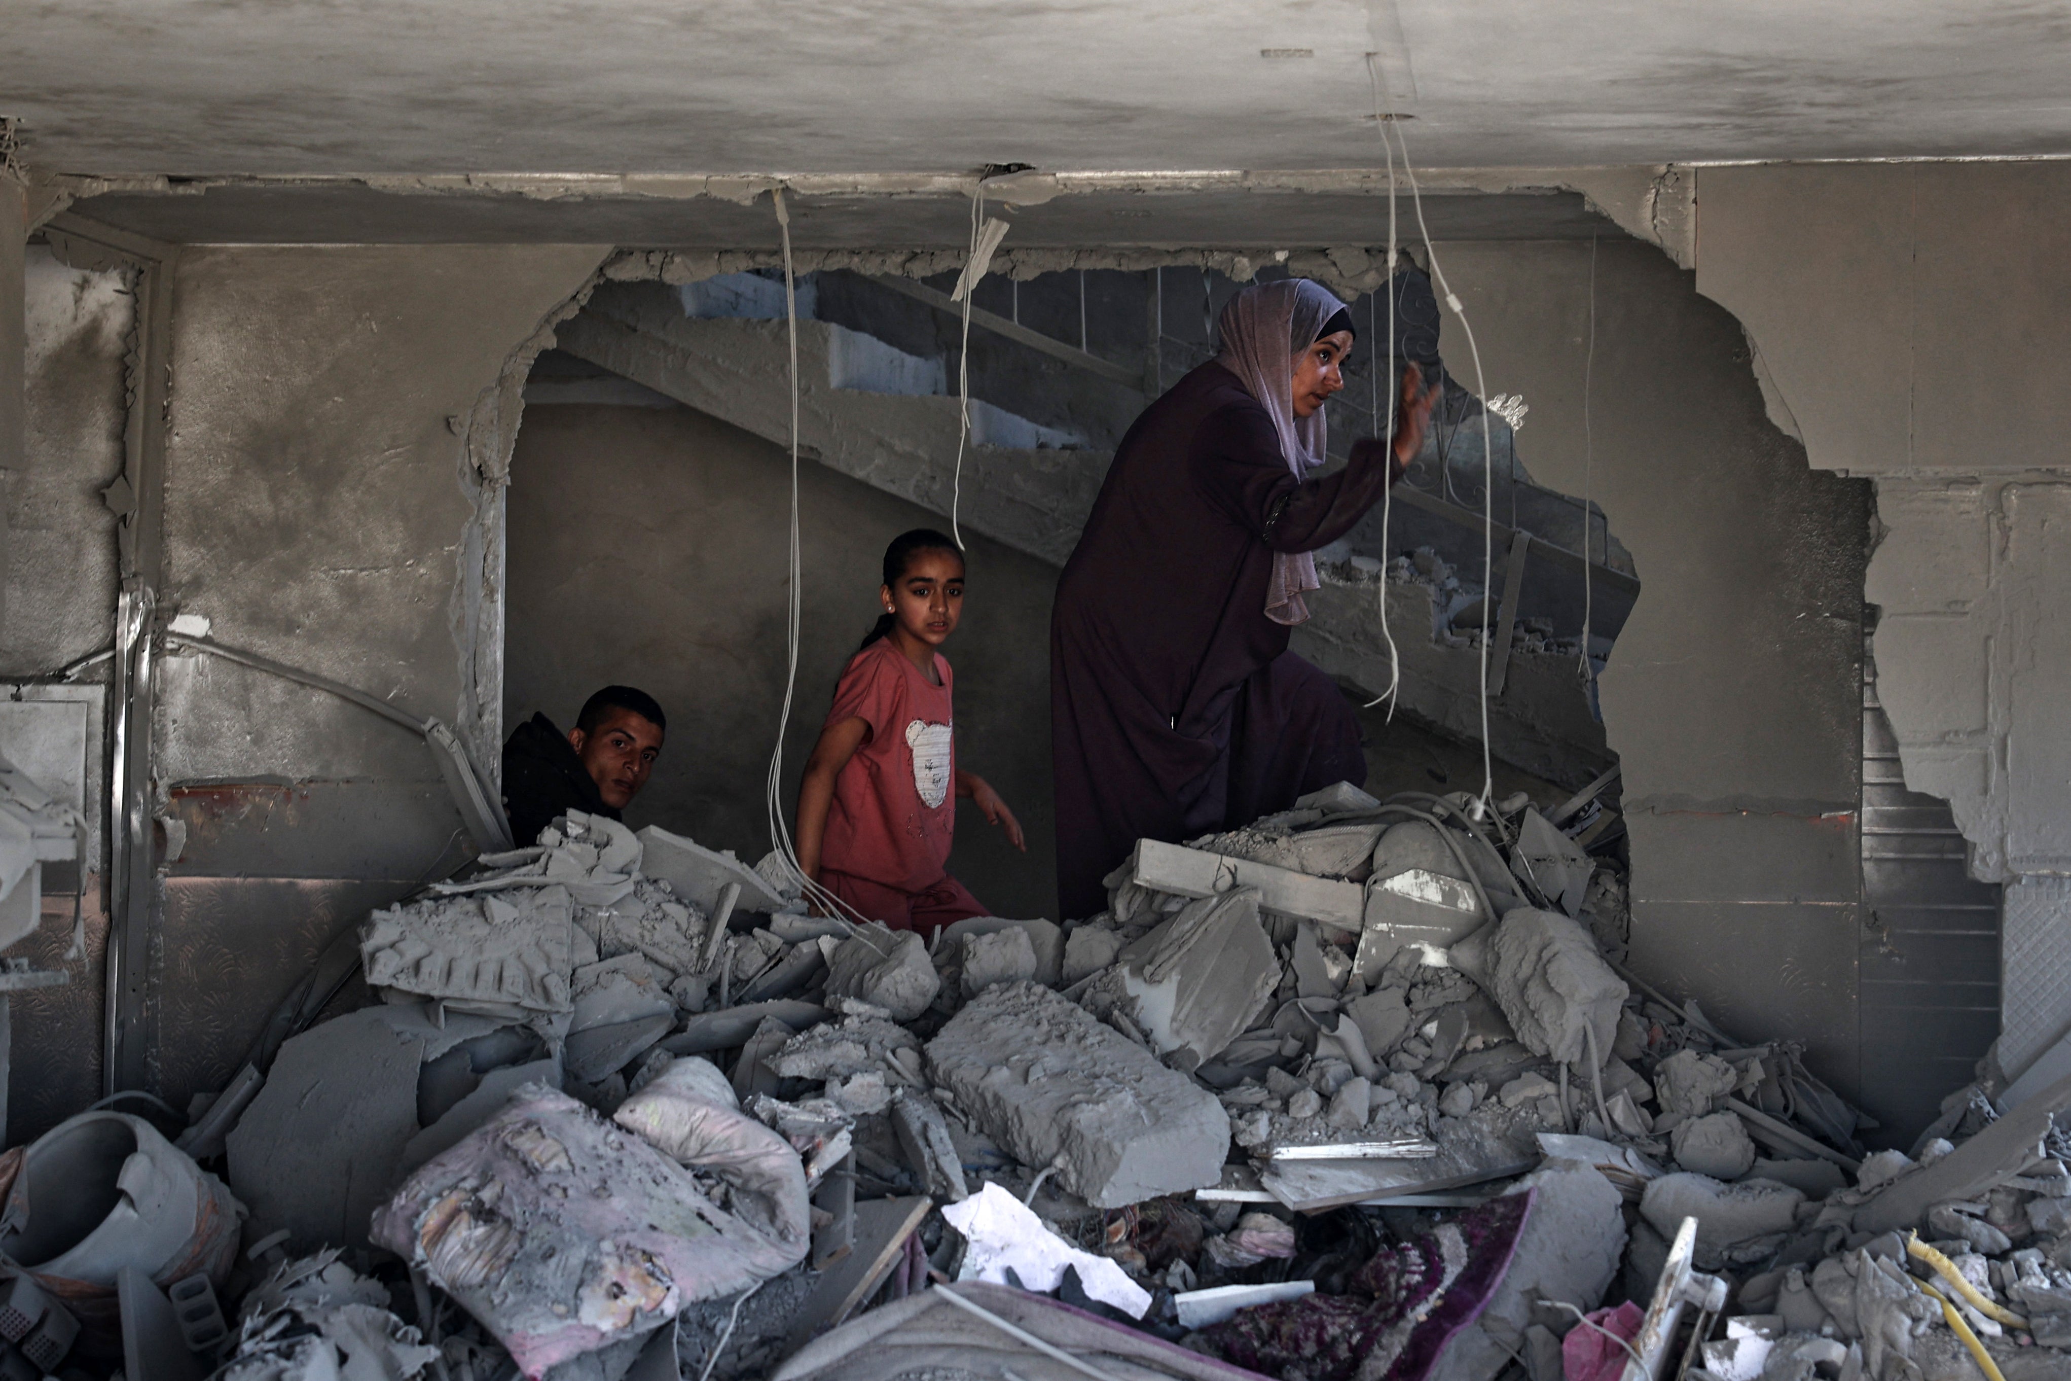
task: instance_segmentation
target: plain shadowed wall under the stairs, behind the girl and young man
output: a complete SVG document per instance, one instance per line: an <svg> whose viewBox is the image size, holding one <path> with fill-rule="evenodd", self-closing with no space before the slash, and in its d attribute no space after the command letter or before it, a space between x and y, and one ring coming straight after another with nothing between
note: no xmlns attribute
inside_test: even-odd
<svg viewBox="0 0 2071 1381"><path fill-rule="evenodd" d="M772 379L781 393L783 381ZM804 634L785 739L785 812L857 640L876 621L884 545L946 520L799 466ZM538 406L512 462L505 721L561 729L599 685L650 692L669 741L634 826L746 859L768 845L762 781L785 683L789 458L692 408ZM973 534L957 669L959 762L1027 828L1025 855L969 803L951 870L1002 915L1056 917L1050 826L1050 594L1056 571Z"/></svg>

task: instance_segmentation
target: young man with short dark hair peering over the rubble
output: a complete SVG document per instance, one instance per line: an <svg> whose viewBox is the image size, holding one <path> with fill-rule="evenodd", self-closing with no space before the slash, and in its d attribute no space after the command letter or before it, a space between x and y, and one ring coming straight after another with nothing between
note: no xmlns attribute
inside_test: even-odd
<svg viewBox="0 0 2071 1381"><path fill-rule="evenodd" d="M617 820L654 770L665 729L654 698L632 685L590 696L565 737L545 714L518 725L503 745L503 814L518 847L570 810Z"/></svg>

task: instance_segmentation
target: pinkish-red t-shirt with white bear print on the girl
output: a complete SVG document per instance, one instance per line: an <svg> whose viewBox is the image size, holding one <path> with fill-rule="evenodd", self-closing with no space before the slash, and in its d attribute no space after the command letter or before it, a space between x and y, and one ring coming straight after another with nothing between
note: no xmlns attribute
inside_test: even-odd
<svg viewBox="0 0 2071 1381"><path fill-rule="evenodd" d="M949 872L957 828L957 743L949 658L934 654L930 685L905 652L880 638L849 658L828 725L859 718L870 737L835 776L820 865L917 892Z"/></svg>

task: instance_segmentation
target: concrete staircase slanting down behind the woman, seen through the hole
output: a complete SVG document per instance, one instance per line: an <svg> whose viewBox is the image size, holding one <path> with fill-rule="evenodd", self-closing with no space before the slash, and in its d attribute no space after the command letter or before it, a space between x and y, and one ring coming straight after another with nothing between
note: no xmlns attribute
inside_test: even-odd
<svg viewBox="0 0 2071 1381"><path fill-rule="evenodd" d="M743 280L743 282L731 282ZM775 292L772 292L775 290ZM895 350L864 331L812 321L801 294L797 323L799 449L874 489L949 516L957 458L957 398L944 360ZM781 286L731 275L686 290L607 284L557 327L557 346L599 369L789 445L789 342ZM971 402L959 522L1007 547L1062 565L1079 540L1112 456L986 402ZM946 526L946 524L944 524ZM1402 663L1400 708L1460 737L1479 739L1481 656L1450 646L1443 613L1425 584L1377 574L1390 553L1319 553L1323 588L1294 650L1340 681L1379 694L1388 652L1379 600L1388 600ZM1369 557L1348 561L1348 557ZM1379 561L1371 559L1377 557ZM1458 596L1454 596L1458 600ZM1572 656L1512 654L1510 685L1489 706L1493 752L1562 785L1582 785L1609 764L1603 725L1588 708Z"/></svg>

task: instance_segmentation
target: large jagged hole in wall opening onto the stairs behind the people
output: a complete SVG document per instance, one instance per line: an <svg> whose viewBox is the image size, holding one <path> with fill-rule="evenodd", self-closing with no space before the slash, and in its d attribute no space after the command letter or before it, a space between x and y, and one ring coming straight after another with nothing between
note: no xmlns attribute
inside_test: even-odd
<svg viewBox="0 0 2071 1381"><path fill-rule="evenodd" d="M1259 277L1282 273L1270 265ZM959 412L953 282L955 271L799 277L801 443L820 464L804 476L808 652L797 741L785 754L793 778L841 660L874 615L884 540L903 526L946 526ZM1187 263L994 273L978 288L963 472L963 528L978 538L965 627L949 648L959 752L1017 807L1040 801L1044 822L1054 569L1145 398L1212 358L1216 315L1241 286ZM1385 352L1385 286L1373 313L1357 296L1352 315L1379 323ZM505 723L547 710L565 727L594 685L652 681L646 689L683 727L671 718L665 766L636 814L743 855L768 847L754 810L783 689L783 319L772 269L603 284L534 364L512 466ZM1375 379L1385 354L1375 360L1375 331L1361 335L1330 404L1336 460L1385 422L1388 389ZM1512 422L1462 381L1448 377L1385 532L1375 509L1319 553L1325 586L1294 648L1357 702L1371 700L1390 681L1385 600L1402 689L1392 716L1385 706L1363 712L1369 789L1479 791L1485 503L1497 524L1491 636L1506 613L1508 534L1533 534L1510 656L1493 656L1499 636L1491 646L1491 663L1504 660L1489 714L1495 785L1549 805L1613 762L1582 665L1603 669L1638 580L1603 511L1537 484ZM1588 598L1584 547L1595 559ZM986 834L959 830L959 853L984 853ZM1603 843L1615 851L1611 834ZM980 857L957 872L994 907L1013 899L1050 913L1048 861L1031 863Z"/></svg>

